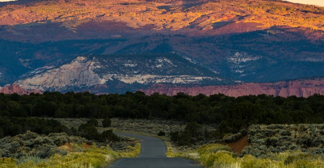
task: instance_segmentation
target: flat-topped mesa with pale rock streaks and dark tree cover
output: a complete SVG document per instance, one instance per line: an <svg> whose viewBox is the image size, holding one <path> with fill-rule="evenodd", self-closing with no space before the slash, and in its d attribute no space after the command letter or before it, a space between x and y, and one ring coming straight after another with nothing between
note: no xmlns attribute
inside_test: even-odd
<svg viewBox="0 0 324 168"><path fill-rule="evenodd" d="M42 92L85 91L101 85L109 86L113 92L118 85L130 87L124 88L124 92L156 83L200 85L204 82L222 83L223 79L207 68L171 54L77 57L62 66L17 80L15 84L25 90Z"/></svg>

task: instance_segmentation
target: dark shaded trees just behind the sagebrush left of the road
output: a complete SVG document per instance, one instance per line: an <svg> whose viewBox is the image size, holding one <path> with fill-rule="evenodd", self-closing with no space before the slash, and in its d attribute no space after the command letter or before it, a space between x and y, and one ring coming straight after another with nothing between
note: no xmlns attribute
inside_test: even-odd
<svg viewBox="0 0 324 168"><path fill-rule="evenodd" d="M109 118L104 119L104 127L110 127ZM97 128L98 121L91 119L87 123L81 124L77 130L67 128L54 119L31 118L31 117L0 117L0 139L6 136L16 136L31 131L37 134L49 135L50 133L66 133L71 136L80 136L88 140L99 142L119 141L117 135L112 130L106 130L99 134Z"/></svg>

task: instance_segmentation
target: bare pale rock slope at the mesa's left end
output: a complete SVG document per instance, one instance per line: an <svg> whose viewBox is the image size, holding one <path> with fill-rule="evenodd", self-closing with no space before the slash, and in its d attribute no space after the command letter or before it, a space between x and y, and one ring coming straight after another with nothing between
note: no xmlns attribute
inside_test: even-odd
<svg viewBox="0 0 324 168"><path fill-rule="evenodd" d="M77 57L69 64L21 79L15 83L26 90L59 91L67 87L91 87L102 84L93 72L94 62Z"/></svg>

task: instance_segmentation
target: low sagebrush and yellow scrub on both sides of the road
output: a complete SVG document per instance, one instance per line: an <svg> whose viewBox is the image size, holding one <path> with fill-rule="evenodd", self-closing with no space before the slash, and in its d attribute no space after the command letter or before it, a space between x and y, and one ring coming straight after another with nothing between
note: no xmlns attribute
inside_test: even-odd
<svg viewBox="0 0 324 168"><path fill-rule="evenodd" d="M57 118L55 120L68 128L94 122L93 119L88 118ZM256 124L238 134L226 135L222 140L223 144L213 144L214 140L178 146L179 144L171 141L172 133L186 133L192 131L192 128L199 130L200 127L204 128L200 128L200 130L207 129L213 132L216 130L216 125L196 125L197 123L176 120L112 118L111 127L103 128L103 119L98 121L97 128L101 131L115 129L152 136L160 135L169 147L168 157L194 159L205 167L324 166L324 156L322 155L323 124ZM165 129L163 130L163 128ZM160 134L163 131L165 131L165 135ZM201 133L204 133L204 131ZM241 154L234 153L231 147L224 145L224 142L236 141L245 135L248 135L250 145L244 148ZM45 136L27 132L12 138L6 137L0 141L1 151L4 151L3 146L6 146L7 151L17 152L6 155L6 157L15 158L20 155L18 159L3 158L0 167L4 165L6 167L10 165L13 165L13 167L101 167L120 157L136 156L136 153L138 154L140 151L139 144L136 144L134 139L127 141L121 139L120 142L109 143L110 147L97 147L97 144L86 145L92 144L92 141L67 136L65 133L52 133ZM17 142L28 145L19 147ZM8 144L12 144L11 147L8 147ZM46 149L51 145L51 150ZM5 156L3 153L2 157ZM48 157L44 157L46 153ZM86 159L88 157L89 160Z"/></svg>

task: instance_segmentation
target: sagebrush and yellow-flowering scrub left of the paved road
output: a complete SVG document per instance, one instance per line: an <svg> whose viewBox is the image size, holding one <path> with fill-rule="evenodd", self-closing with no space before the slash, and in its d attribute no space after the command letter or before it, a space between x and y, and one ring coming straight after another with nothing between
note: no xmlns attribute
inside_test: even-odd
<svg viewBox="0 0 324 168"><path fill-rule="evenodd" d="M97 147L85 138L52 133L27 132L0 140L0 167L102 167L122 157L136 157L140 144L124 139L119 149Z"/></svg>

